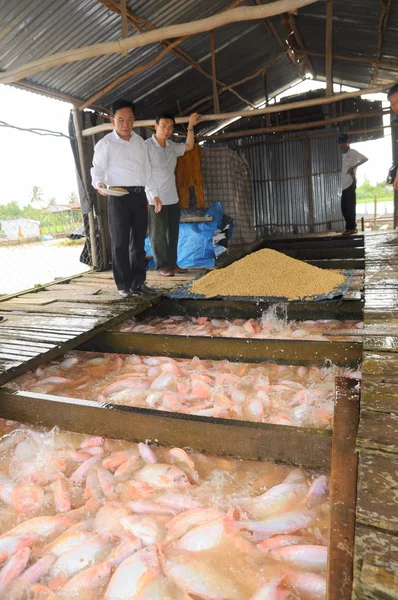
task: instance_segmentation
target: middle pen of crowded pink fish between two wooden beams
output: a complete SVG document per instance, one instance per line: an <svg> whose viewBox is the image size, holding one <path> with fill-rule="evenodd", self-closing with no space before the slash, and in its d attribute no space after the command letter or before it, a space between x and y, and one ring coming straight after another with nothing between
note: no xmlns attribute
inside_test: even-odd
<svg viewBox="0 0 398 600"><path fill-rule="evenodd" d="M336 376L328 365L235 363L74 352L6 384L111 404L302 427L330 428Z"/></svg>

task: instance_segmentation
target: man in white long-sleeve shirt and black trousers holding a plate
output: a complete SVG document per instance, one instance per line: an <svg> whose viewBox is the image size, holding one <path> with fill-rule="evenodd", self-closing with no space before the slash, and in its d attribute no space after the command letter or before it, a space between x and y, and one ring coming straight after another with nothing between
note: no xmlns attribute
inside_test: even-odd
<svg viewBox="0 0 398 600"><path fill-rule="evenodd" d="M112 105L114 130L94 148L91 178L102 196L109 196L108 217L112 246L112 270L122 298L157 294L145 285L145 236L148 204L145 189L150 190L154 210L162 203L152 178L144 140L133 132L135 108L128 100ZM128 195L110 196L109 187L122 187Z"/></svg>

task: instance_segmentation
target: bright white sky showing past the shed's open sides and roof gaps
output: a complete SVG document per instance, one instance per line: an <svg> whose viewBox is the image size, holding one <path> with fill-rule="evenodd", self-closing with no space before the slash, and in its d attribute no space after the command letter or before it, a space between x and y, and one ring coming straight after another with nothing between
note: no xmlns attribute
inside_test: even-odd
<svg viewBox="0 0 398 600"><path fill-rule="evenodd" d="M278 99L310 89L324 88L322 82L305 80L284 92ZM335 91L339 91L340 86ZM343 91L352 88L343 87ZM372 99L385 100L385 94ZM68 134L68 118L72 106L13 88L0 86L0 121L24 128L41 128ZM0 123L1 125L1 123ZM365 177L375 184L387 176L391 163L391 134L379 140L353 144L369 162L358 169L358 184ZM389 134L389 135L388 135ZM0 204L15 200L22 207L32 197L37 185L43 199L55 198L57 204L68 201L71 192L77 193L75 167L67 138L40 136L9 127L0 127Z"/></svg>

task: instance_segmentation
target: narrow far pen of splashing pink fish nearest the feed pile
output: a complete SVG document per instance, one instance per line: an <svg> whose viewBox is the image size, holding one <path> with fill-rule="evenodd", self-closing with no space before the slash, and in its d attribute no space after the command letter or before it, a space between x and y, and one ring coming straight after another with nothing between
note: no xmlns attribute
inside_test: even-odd
<svg viewBox="0 0 398 600"><path fill-rule="evenodd" d="M356 341L362 321L285 321L283 319L209 319L208 317L132 318L118 327L121 332L250 339L308 341ZM333 332L344 330L342 335ZM332 335L329 335L332 334Z"/></svg>

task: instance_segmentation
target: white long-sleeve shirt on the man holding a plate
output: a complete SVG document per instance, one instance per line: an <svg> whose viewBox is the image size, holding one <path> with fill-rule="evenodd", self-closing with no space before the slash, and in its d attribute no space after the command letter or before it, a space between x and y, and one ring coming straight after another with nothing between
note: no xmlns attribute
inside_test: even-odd
<svg viewBox="0 0 398 600"><path fill-rule="evenodd" d="M113 130L95 145L91 181L95 188L145 186L152 198L158 196L145 142L134 131L127 141Z"/></svg>

